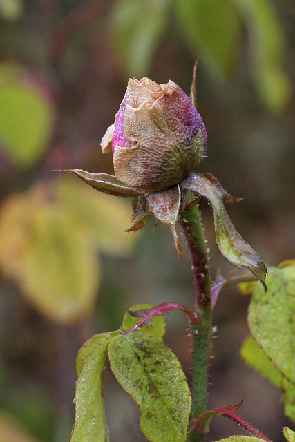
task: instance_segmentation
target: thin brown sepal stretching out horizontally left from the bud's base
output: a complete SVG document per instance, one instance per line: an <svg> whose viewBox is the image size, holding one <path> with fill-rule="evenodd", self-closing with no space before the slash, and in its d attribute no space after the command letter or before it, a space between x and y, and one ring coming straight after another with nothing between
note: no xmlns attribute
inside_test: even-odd
<svg viewBox="0 0 295 442"><path fill-rule="evenodd" d="M136 197L144 194L144 191L133 189L118 181L113 175L108 173L91 173L82 169L66 169L64 172L71 172L81 178L86 184L99 192L108 193L113 196Z"/></svg>

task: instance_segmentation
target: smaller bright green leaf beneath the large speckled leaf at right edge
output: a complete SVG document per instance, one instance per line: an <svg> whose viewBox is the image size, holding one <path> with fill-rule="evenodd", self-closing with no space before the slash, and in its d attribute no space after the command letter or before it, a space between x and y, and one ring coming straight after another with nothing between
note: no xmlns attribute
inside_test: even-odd
<svg viewBox="0 0 295 442"><path fill-rule="evenodd" d="M295 386L278 371L254 338L249 337L244 341L240 354L247 365L282 390L285 415L295 422Z"/></svg>

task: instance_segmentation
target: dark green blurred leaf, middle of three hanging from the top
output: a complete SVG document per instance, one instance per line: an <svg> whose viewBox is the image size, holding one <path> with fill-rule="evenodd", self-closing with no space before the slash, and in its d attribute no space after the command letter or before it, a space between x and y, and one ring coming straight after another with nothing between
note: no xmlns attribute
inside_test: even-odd
<svg viewBox="0 0 295 442"><path fill-rule="evenodd" d="M177 0L175 8L175 17L193 57L200 56L215 77L227 77L236 65L241 35L232 2Z"/></svg>

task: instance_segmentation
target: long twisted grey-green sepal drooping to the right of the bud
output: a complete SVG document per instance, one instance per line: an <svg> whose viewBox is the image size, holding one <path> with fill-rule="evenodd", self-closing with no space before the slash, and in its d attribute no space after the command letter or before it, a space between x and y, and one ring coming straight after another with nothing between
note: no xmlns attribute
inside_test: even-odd
<svg viewBox="0 0 295 442"><path fill-rule="evenodd" d="M266 291L265 276L267 271L263 260L236 231L223 205L224 201L234 202L234 199L222 189L218 180L209 174L191 173L180 185L209 200L213 209L216 241L220 252L236 267L247 267L262 282Z"/></svg>

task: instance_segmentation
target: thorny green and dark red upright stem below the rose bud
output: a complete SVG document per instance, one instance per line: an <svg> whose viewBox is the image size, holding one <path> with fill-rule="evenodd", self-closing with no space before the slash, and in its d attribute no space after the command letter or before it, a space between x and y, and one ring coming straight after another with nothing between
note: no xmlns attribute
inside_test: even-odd
<svg viewBox="0 0 295 442"><path fill-rule="evenodd" d="M180 225L184 233L191 260L196 287L196 313L201 323L191 325L193 339L193 382L191 422L206 410L207 384L209 369L209 349L211 345L211 296L210 276L208 269L207 248L202 231L200 211L195 206L189 211L180 213ZM193 430L189 432L190 442L200 442L204 435Z"/></svg>

